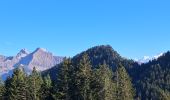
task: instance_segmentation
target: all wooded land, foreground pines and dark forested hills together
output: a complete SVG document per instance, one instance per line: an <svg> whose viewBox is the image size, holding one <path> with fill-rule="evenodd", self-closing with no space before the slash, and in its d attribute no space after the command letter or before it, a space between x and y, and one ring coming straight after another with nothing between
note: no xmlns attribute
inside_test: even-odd
<svg viewBox="0 0 170 100"><path fill-rule="evenodd" d="M42 77L36 69L29 76L15 70L5 85L0 85L3 91L0 97L7 100L170 100L170 52L138 64L121 57L109 45L96 46L73 58L65 58L41 74Z"/></svg>

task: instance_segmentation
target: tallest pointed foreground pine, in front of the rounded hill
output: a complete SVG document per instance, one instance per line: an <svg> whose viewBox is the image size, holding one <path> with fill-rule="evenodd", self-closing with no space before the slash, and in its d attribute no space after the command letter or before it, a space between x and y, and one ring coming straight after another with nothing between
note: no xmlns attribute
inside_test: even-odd
<svg viewBox="0 0 170 100"><path fill-rule="evenodd" d="M77 64L74 73L74 97L77 100L90 100L90 81L92 76L91 63L87 54L84 54Z"/></svg>

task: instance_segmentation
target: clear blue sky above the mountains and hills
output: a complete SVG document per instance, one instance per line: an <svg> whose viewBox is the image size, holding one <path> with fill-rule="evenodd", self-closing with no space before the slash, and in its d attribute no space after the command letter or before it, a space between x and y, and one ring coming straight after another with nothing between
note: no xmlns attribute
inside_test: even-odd
<svg viewBox="0 0 170 100"><path fill-rule="evenodd" d="M169 0L1 0L0 54L47 48L73 56L110 44L140 58L170 50Z"/></svg>

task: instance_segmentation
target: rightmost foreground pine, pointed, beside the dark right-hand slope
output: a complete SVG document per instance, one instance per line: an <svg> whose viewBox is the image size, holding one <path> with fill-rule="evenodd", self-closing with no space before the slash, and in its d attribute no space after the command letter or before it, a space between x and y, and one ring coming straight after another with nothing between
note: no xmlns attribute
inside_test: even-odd
<svg viewBox="0 0 170 100"><path fill-rule="evenodd" d="M116 100L133 100L134 89L126 69L119 64L116 74Z"/></svg>

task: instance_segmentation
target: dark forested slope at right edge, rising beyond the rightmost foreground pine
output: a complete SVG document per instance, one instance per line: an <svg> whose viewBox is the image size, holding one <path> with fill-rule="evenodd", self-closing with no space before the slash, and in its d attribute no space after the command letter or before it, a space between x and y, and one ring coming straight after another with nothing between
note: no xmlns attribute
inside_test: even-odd
<svg viewBox="0 0 170 100"><path fill-rule="evenodd" d="M170 92L170 52L157 60L142 64L135 82L137 95L142 100L169 100Z"/></svg>

